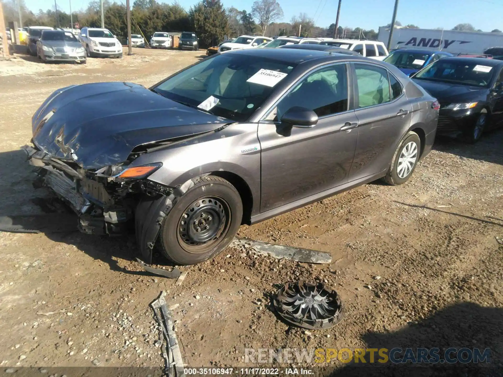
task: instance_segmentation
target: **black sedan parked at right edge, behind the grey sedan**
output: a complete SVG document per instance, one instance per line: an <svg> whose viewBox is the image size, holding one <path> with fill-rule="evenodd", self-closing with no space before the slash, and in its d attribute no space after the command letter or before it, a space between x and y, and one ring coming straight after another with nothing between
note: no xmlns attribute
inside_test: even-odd
<svg viewBox="0 0 503 377"><path fill-rule="evenodd" d="M440 102L438 135L474 143L503 121L503 61L448 57L428 65L413 81Z"/></svg>

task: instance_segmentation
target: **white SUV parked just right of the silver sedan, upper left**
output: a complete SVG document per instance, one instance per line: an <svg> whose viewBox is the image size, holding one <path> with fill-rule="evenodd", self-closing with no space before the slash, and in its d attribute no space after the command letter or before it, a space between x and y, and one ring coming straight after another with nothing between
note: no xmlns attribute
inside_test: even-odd
<svg viewBox="0 0 503 377"><path fill-rule="evenodd" d="M122 57L122 44L108 29L82 28L78 39L86 49L88 57Z"/></svg>

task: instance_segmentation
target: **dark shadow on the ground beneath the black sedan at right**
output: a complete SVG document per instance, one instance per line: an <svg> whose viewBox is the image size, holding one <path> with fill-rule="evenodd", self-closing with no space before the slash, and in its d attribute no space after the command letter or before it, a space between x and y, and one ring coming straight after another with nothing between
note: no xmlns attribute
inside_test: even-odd
<svg viewBox="0 0 503 377"><path fill-rule="evenodd" d="M433 149L455 154L459 157L503 165L503 130L487 132L475 144L468 144L459 139L437 136Z"/></svg>

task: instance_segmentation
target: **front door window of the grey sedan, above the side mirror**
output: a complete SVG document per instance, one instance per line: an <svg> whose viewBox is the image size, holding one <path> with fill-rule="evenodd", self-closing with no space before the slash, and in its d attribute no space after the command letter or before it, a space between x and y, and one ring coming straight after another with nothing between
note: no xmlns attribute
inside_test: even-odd
<svg viewBox="0 0 503 377"><path fill-rule="evenodd" d="M348 110L348 75L346 64L322 68L294 85L278 104L274 116L279 122L283 114L294 106L312 110L318 117Z"/></svg>

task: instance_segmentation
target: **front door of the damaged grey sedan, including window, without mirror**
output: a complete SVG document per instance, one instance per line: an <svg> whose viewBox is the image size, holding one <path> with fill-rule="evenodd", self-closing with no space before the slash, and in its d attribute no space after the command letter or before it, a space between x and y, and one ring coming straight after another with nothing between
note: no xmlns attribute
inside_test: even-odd
<svg viewBox="0 0 503 377"><path fill-rule="evenodd" d="M348 67L332 64L304 76L259 123L261 212L348 181L358 135ZM282 124L282 115L294 106L313 110L318 123L312 128Z"/></svg>

